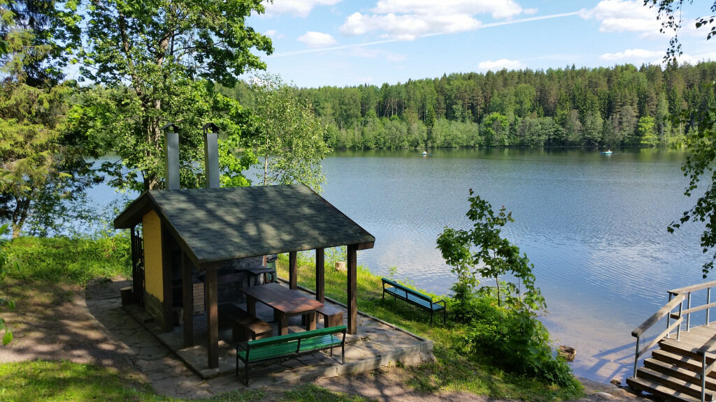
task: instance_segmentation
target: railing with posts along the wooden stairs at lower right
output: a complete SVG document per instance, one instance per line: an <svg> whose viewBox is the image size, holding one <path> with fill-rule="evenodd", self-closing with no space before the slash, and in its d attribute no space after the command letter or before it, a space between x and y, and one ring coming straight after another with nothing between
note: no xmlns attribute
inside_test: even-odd
<svg viewBox="0 0 716 402"><path fill-rule="evenodd" d="M684 315L686 315L686 330L689 331L691 329L691 313L696 313L697 311L706 310L706 325L708 326L709 318L710 318L710 309L716 308L716 303L711 303L711 288L716 287L716 281L707 282L707 283L700 283L699 285L691 285L691 286L685 286L684 288L678 288L669 290L669 303L665 304L662 308L660 308L657 313L654 313L651 317L649 317L642 325L639 325L636 329L632 331L632 336L637 338L637 350L634 353L634 377L637 376L637 366L639 364L639 358L644 356L645 353L647 353L651 348L654 347L657 343L659 343L659 340L666 337L669 338L669 335L672 334L672 331L674 328L676 328L677 336L676 339L680 340L681 338L681 327L682 323L684 322ZM696 292L697 290L704 290L706 289L706 303L702 305L698 305L696 307L692 307L691 305L691 293ZM687 302L687 308L684 310L684 300ZM675 308L679 308L679 313L674 313ZM652 327L655 323L657 323L662 318L667 317L667 329L664 330L661 334L657 335L652 342L649 343L646 347L644 347L642 350L639 350L639 340L644 334L645 331L647 331L649 328ZM672 324L671 319L674 318L675 321ZM714 368L716 368L716 360L713 361L710 365L707 366L707 350L710 349L713 345L716 345L716 335L711 338L707 343L705 343L702 348L697 350L697 355L700 356L701 364L702 364L702 370L701 370L701 401L705 401L706 396L706 377L711 373Z"/></svg>

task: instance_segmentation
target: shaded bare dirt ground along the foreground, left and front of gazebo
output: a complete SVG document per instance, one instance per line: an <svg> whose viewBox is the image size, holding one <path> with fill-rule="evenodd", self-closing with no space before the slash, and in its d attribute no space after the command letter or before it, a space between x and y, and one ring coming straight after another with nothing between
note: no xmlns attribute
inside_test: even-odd
<svg viewBox="0 0 716 402"><path fill-rule="evenodd" d="M168 351L151 344L150 335L145 337L137 332L142 330L138 325L140 329L129 330L124 338L121 331L109 327L110 335L105 324L112 324L107 323L107 316L114 315L116 320L122 312L97 309L107 305L104 302L109 299L117 298L119 288L124 285L126 282L120 280L95 280L87 289L82 289L39 283L14 286L13 280L6 280L2 292L16 300L16 310L3 316L13 329L15 339L0 348L0 363L44 359L125 368L142 373L158 393L179 398L207 397L241 388L233 377L201 381ZM405 369L392 367L353 376L319 378L313 382L329 391L377 401L493 401L463 392L419 393L407 386L408 378L410 373ZM588 380L583 383L588 393L584 401L645 401L610 384ZM272 391L289 391L293 386L279 384ZM282 394L271 392L266 401L279 401Z"/></svg>

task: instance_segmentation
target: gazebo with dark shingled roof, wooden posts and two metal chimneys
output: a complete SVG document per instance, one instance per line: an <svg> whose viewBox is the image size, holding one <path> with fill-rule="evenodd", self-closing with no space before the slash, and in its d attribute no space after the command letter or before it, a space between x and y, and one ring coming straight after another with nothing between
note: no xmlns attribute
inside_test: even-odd
<svg viewBox="0 0 716 402"><path fill-rule="evenodd" d="M205 149L216 149L216 134L205 132ZM208 140L207 140L208 137ZM172 152L168 139L168 159ZM206 145L208 144L208 146ZM143 232L145 309L164 329L173 318L172 279L180 278L183 316L193 318L193 278L203 276L207 320L208 367L218 368L217 271L228 261L289 253L289 288L297 288L297 252L316 250L316 299L324 300L324 249L347 246L348 332L357 330L357 252L372 248L369 232L304 185L218 187L218 162L207 157L208 182L214 187L179 189L168 162L170 190L142 193L115 218L116 229ZM178 166L178 164L177 164ZM137 275L135 272L133 275ZM183 324L185 347L194 344L193 320Z"/></svg>

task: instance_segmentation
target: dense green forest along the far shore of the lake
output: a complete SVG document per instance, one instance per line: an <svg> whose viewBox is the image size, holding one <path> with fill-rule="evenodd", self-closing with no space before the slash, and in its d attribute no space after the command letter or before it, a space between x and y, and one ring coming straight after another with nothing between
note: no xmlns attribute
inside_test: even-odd
<svg viewBox="0 0 716 402"><path fill-rule="evenodd" d="M337 149L679 147L682 109L715 107L716 62L443 75L405 84L296 89ZM251 107L240 82L225 94Z"/></svg>

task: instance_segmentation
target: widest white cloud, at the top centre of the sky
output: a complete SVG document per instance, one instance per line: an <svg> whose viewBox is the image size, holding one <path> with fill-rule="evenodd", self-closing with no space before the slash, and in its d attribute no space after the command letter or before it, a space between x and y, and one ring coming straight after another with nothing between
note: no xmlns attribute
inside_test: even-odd
<svg viewBox="0 0 716 402"><path fill-rule="evenodd" d="M478 29L482 26L475 18L478 14L511 19L525 11L513 0L379 0L369 13L350 15L340 31L346 35L380 31L383 37L412 40L426 34Z"/></svg>

